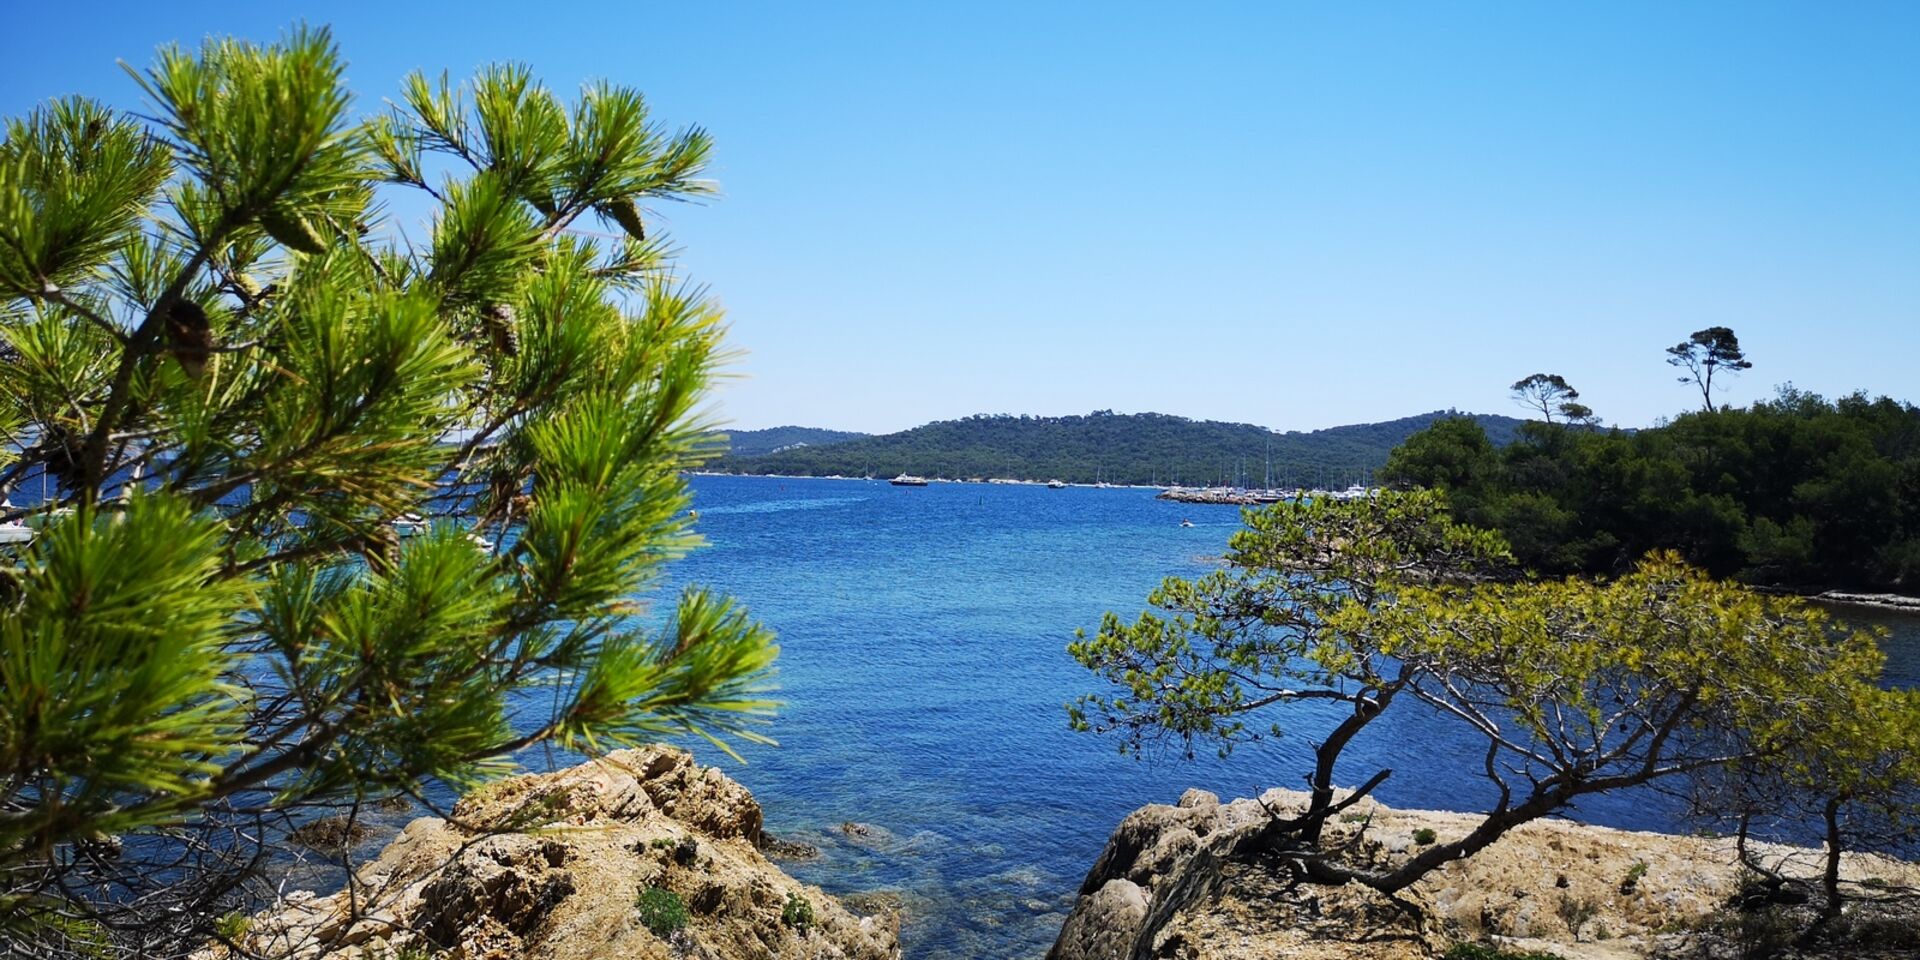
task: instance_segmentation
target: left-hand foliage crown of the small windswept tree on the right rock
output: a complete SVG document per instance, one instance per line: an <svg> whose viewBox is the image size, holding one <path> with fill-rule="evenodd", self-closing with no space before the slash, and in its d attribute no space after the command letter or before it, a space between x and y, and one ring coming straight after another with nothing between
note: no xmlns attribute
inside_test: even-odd
<svg viewBox="0 0 1920 960"><path fill-rule="evenodd" d="M1298 699L1350 699L1346 687L1388 684L1390 637L1377 616L1407 588L1498 568L1498 538L1453 524L1434 493L1357 501L1309 499L1246 511L1229 540L1229 568L1167 578L1146 599L1158 612L1068 647L1117 693L1069 707L1075 730L1117 732L1121 751L1164 737L1190 756L1212 743L1277 733L1240 714Z"/></svg>

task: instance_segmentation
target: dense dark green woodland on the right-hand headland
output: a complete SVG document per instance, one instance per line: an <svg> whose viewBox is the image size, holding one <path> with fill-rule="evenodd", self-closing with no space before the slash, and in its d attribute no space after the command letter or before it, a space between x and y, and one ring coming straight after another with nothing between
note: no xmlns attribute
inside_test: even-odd
<svg viewBox="0 0 1920 960"><path fill-rule="evenodd" d="M1407 438L1380 478L1444 490L1542 574L1615 574L1674 549L1715 576L1908 589L1920 578L1920 407L1782 390L1640 432L1465 420Z"/></svg>

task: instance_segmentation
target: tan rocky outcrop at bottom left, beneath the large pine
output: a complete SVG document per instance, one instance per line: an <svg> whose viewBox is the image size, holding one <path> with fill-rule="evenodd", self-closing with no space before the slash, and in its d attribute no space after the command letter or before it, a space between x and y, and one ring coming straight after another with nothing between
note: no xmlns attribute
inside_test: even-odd
<svg viewBox="0 0 1920 960"><path fill-rule="evenodd" d="M801 885L762 839L760 804L718 770L668 747L620 751L415 820L349 889L286 897L240 945L301 960L899 956L895 914Z"/></svg>

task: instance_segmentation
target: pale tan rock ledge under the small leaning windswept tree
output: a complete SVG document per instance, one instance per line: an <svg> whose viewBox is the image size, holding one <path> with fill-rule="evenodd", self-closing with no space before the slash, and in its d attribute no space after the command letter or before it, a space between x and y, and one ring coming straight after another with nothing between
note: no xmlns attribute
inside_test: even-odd
<svg viewBox="0 0 1920 960"><path fill-rule="evenodd" d="M1743 924L1726 908L1741 870L1726 839L1540 820L1428 874L1402 895L1415 908L1404 910L1359 883L1294 883L1261 858L1250 839L1265 806L1286 816L1306 801L1279 789L1233 803L1188 791L1177 806L1135 810L1087 874L1048 960L1427 960L1453 943L1565 960L1707 958L1740 956L1732 939L1749 933L1730 929ZM1475 824L1471 814L1361 801L1327 826L1325 843L1386 866ZM1818 851L1759 849L1788 872L1818 870ZM1851 856L1845 876L1920 885L1920 868L1880 856Z"/></svg>

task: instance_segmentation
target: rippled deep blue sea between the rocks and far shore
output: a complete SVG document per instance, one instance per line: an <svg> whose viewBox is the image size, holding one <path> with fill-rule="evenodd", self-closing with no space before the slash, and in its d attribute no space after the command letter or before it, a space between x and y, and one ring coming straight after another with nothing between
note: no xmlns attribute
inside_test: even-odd
<svg viewBox="0 0 1920 960"><path fill-rule="evenodd" d="M651 593L724 591L780 634L780 745L735 762L772 833L822 856L783 864L829 893L877 891L904 906L914 960L1039 958L1114 826L1188 787L1223 799L1300 787L1315 707L1269 720L1275 739L1221 758L1179 745L1121 756L1068 728L1066 705L1100 689L1066 651L1102 612L1133 616L1165 576L1215 568L1240 526L1233 507L1152 490L1012 484L897 488L883 480L697 476L707 547ZM1190 522L1185 526L1183 520ZM1841 611L1887 626L1889 682L1920 684L1920 620ZM1344 755L1340 780L1380 768L1396 806L1484 808L1478 753L1448 724L1392 712ZM1463 776L1463 770L1469 772ZM1686 829L1657 793L1571 810L1632 829Z"/></svg>

